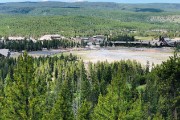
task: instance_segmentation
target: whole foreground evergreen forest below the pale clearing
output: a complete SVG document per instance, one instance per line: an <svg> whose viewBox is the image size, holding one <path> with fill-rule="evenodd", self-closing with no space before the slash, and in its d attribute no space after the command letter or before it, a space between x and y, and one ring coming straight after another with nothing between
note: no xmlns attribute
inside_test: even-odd
<svg viewBox="0 0 180 120"><path fill-rule="evenodd" d="M0 58L2 120L178 120L180 57L149 71L136 61L76 56Z"/></svg>

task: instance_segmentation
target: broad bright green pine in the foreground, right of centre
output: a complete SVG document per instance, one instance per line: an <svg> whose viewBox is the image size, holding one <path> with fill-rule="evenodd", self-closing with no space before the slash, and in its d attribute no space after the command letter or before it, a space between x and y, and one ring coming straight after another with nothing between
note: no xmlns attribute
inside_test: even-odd
<svg viewBox="0 0 180 120"><path fill-rule="evenodd" d="M94 120L117 120L120 112L125 111L127 107L124 97L126 90L126 84L121 75L114 78L108 87L108 93L105 96L99 96L92 118Z"/></svg>

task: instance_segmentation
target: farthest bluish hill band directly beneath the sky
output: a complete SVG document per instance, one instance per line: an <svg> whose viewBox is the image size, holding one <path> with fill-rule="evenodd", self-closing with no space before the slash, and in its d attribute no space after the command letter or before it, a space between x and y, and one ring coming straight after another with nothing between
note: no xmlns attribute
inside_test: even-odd
<svg viewBox="0 0 180 120"><path fill-rule="evenodd" d="M94 9L94 10L119 10L132 12L170 12L180 11L180 4L151 3L151 4L120 4L106 2L16 2L1 3L0 13L40 14L40 11L54 9ZM52 13L58 15L58 13ZM60 13L59 13L60 14ZM61 15L61 14L60 14Z"/></svg>

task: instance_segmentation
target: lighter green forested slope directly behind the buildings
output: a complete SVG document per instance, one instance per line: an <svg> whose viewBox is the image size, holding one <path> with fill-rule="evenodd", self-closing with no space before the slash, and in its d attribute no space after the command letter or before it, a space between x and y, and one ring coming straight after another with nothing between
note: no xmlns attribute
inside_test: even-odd
<svg viewBox="0 0 180 120"><path fill-rule="evenodd" d="M128 34L130 36L180 36L178 23L118 21L87 16L0 15L0 37L39 38L44 34L66 37ZM129 16L130 17L130 16Z"/></svg>

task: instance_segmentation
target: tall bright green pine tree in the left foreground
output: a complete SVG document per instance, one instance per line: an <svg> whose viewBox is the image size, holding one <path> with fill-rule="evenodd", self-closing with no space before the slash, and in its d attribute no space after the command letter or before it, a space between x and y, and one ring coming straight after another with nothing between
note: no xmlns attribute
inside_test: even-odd
<svg viewBox="0 0 180 120"><path fill-rule="evenodd" d="M34 68L33 59L23 53L18 58L18 62L13 74L6 79L5 99L4 99L4 119L32 119L34 99Z"/></svg>

